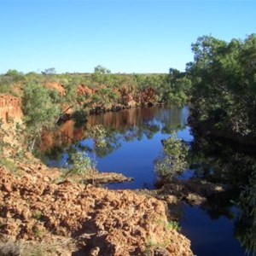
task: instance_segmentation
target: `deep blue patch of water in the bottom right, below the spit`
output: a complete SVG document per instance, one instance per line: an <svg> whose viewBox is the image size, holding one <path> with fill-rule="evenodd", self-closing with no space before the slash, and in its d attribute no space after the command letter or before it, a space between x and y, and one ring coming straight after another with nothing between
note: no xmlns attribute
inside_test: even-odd
<svg viewBox="0 0 256 256"><path fill-rule="evenodd" d="M232 211L237 216L237 208ZM234 237L234 219L220 216L211 218L200 207L183 207L181 219L183 235L192 241L192 251L200 256L240 256L246 255L240 243Z"/></svg>

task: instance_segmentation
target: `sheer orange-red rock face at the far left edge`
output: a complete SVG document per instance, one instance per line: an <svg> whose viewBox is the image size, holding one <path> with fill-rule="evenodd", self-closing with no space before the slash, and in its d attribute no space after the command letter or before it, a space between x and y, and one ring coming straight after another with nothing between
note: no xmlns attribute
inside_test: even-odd
<svg viewBox="0 0 256 256"><path fill-rule="evenodd" d="M21 99L15 96L0 95L0 119L6 123L9 119L20 121L21 118Z"/></svg>

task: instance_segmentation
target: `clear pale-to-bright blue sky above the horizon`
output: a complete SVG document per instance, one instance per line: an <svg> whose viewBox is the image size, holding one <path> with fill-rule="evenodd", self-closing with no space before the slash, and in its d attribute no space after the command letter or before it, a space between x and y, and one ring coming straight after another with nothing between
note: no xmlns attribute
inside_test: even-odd
<svg viewBox="0 0 256 256"><path fill-rule="evenodd" d="M0 73L167 73L202 35L256 32L255 1L0 0Z"/></svg>

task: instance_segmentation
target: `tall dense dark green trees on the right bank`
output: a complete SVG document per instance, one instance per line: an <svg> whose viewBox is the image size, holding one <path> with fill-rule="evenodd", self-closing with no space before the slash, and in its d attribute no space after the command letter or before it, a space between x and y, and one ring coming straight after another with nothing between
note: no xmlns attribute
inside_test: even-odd
<svg viewBox="0 0 256 256"><path fill-rule="evenodd" d="M192 80L191 116L240 137L256 137L256 35L230 43L204 36L192 44L195 61L188 64Z"/></svg>

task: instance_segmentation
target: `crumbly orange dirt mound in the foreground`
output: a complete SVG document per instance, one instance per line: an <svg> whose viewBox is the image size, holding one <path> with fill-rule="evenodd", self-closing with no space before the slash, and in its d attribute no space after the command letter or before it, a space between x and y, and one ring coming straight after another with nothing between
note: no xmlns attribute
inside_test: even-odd
<svg viewBox="0 0 256 256"><path fill-rule="evenodd" d="M193 255L189 240L168 224L163 201L55 183L56 172L42 166L22 169L14 174L0 167L0 235L6 240L63 241L47 255ZM65 249L65 239L73 247Z"/></svg>

